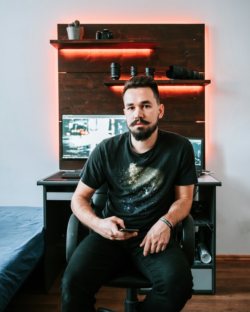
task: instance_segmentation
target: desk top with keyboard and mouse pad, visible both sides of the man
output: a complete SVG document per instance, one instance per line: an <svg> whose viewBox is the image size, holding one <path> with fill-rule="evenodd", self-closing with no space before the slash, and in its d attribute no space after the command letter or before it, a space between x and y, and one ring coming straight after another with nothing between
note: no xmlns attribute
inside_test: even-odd
<svg viewBox="0 0 250 312"><path fill-rule="evenodd" d="M77 185L79 182L79 178L62 178L62 174L67 170L60 170L52 175L43 178L42 180L37 181L37 185ZM196 185L202 185L205 183L206 185L211 186L221 186L221 182L212 177L209 174L202 174L198 178L198 183Z"/></svg>

